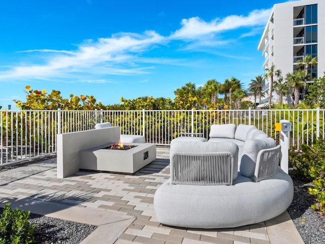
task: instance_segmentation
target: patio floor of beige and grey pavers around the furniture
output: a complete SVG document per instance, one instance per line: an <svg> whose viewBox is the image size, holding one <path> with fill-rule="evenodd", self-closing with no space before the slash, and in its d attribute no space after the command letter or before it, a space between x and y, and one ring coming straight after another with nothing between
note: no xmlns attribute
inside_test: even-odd
<svg viewBox="0 0 325 244"><path fill-rule="evenodd" d="M287 212L262 223L228 229L161 225L153 195L170 178L170 147L134 175L80 171L57 178L56 158L0 172L3 206L98 225L82 243L304 243ZM63 243L63 242L62 242Z"/></svg>

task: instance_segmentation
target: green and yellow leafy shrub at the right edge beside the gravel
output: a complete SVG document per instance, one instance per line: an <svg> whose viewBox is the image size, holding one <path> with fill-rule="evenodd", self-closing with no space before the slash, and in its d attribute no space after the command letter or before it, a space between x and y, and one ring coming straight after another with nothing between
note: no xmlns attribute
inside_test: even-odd
<svg viewBox="0 0 325 244"><path fill-rule="evenodd" d="M313 180L308 192L316 197L316 202L311 207L325 213L325 141L316 140L311 146L302 144L301 148L290 149L289 161L297 175Z"/></svg>

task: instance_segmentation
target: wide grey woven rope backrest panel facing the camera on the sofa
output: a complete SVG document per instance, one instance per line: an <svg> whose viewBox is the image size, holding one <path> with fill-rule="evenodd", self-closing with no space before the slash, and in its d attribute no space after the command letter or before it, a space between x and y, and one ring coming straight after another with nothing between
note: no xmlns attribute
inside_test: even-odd
<svg viewBox="0 0 325 244"><path fill-rule="evenodd" d="M175 153L171 181L181 185L232 185L234 163L230 152Z"/></svg>

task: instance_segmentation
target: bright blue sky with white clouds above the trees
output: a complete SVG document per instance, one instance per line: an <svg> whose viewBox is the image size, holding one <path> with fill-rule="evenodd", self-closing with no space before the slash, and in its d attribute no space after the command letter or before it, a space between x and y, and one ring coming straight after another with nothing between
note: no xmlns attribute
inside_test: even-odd
<svg viewBox="0 0 325 244"><path fill-rule="evenodd" d="M257 45L271 8L285 1L2 0L0 106L24 89L175 98L187 82L263 74Z"/></svg>

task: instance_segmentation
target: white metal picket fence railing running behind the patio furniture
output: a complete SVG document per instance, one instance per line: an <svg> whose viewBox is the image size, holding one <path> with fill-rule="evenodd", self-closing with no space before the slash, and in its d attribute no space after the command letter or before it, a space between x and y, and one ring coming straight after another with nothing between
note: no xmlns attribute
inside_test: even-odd
<svg viewBox="0 0 325 244"><path fill-rule="evenodd" d="M121 134L143 135L148 143L169 145L192 133L209 138L213 124L254 125L277 140L274 123L292 123L290 146L324 138L323 109L293 110L5 110L0 111L0 165L56 152L56 135L91 130L109 121ZM194 134L196 133L196 134Z"/></svg>

